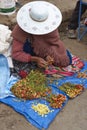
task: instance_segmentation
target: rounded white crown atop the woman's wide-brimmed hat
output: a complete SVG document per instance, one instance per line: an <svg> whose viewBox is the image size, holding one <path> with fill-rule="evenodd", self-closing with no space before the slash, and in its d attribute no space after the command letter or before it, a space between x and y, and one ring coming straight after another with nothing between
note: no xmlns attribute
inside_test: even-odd
<svg viewBox="0 0 87 130"><path fill-rule="evenodd" d="M35 4L29 10L30 17L38 22L45 21L48 18L47 7L43 4Z"/></svg>

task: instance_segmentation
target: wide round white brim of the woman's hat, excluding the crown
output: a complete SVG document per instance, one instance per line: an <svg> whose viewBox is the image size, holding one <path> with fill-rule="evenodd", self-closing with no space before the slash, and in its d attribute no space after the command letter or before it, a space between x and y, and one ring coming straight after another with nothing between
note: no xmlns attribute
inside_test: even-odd
<svg viewBox="0 0 87 130"><path fill-rule="evenodd" d="M49 16L45 21L38 22L33 20L29 15L29 9L34 3L43 2L48 8ZM60 10L53 4L45 1L33 1L25 4L17 13L17 23L22 30L35 35L48 34L54 31L62 21Z"/></svg>

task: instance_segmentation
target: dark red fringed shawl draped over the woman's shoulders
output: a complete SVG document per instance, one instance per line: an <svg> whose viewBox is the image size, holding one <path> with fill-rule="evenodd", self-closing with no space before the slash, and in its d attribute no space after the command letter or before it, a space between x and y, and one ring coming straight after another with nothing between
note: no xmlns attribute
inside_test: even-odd
<svg viewBox="0 0 87 130"><path fill-rule="evenodd" d="M34 53L39 57L51 56L54 58L56 66L68 66L69 57L66 54L64 43L60 40L58 30L45 35L32 35L24 32L18 25L12 32L14 39L25 42L27 38L31 39Z"/></svg>

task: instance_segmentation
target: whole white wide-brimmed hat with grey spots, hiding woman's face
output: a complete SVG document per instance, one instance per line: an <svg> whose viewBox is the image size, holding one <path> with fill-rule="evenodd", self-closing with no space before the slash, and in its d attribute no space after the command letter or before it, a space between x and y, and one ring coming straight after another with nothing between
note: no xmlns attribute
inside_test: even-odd
<svg viewBox="0 0 87 130"><path fill-rule="evenodd" d="M22 6L17 13L19 27L35 35L48 34L61 24L61 11L46 1L33 1Z"/></svg>

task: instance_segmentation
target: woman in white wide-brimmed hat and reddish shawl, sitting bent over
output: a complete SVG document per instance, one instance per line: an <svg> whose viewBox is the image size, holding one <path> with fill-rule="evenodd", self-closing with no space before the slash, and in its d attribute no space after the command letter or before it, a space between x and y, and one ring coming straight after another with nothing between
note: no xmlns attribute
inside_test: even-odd
<svg viewBox="0 0 87 130"><path fill-rule="evenodd" d="M12 31L12 58L21 62L36 62L45 68L47 60L66 67L72 59L60 40L57 27L62 20L60 10L45 1L25 4L17 14L17 25Z"/></svg>

